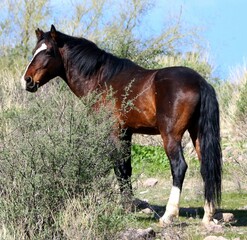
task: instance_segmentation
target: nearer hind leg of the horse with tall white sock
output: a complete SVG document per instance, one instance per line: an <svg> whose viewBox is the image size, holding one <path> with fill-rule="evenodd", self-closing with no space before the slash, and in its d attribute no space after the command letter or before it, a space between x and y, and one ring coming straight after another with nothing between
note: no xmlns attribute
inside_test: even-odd
<svg viewBox="0 0 247 240"><path fill-rule="evenodd" d="M184 160L183 150L181 146L182 136L174 134L161 134L164 142L164 148L170 161L173 185L170 197L166 205L165 214L160 218L161 224L170 224L174 217L179 214L179 200L184 176L187 170L187 164Z"/></svg>

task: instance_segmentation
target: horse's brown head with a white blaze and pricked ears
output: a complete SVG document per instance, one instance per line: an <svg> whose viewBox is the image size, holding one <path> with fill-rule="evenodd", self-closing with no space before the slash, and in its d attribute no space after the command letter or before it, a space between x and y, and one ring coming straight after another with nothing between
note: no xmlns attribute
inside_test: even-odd
<svg viewBox="0 0 247 240"><path fill-rule="evenodd" d="M37 29L37 44L33 57L21 78L24 89L36 92L38 88L56 76L63 74L63 62L59 52L58 34L52 25L50 32Z"/></svg>

